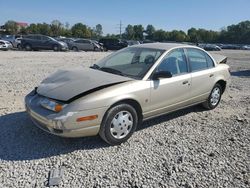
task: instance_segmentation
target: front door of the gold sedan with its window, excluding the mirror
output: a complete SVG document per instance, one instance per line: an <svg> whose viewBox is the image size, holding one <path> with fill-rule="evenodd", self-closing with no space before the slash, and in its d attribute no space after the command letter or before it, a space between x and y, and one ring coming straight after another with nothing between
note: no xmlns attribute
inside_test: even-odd
<svg viewBox="0 0 250 188"><path fill-rule="evenodd" d="M169 71L172 78L151 80L151 101L148 116L165 113L189 104L191 74L183 49L166 55L155 72Z"/></svg>

